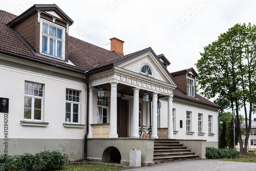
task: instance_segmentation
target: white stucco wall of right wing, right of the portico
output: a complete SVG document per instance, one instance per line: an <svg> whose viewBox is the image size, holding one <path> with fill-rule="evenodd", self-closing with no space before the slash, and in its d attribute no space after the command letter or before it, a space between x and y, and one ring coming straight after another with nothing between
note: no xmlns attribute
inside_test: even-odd
<svg viewBox="0 0 256 171"><path fill-rule="evenodd" d="M163 101L160 111L160 127L167 127L167 99ZM214 108L208 108L206 105L197 105L196 103L187 102L187 100L177 100L174 98L173 109L175 109L175 139L203 139L208 142L217 143L218 141L218 111ZM193 135L186 134L186 112L191 112L191 132L195 132ZM202 114L203 126L202 132L204 135L198 135L198 114ZM212 116L212 133L214 136L208 135L208 116ZM180 127L180 120L182 120L183 126ZM206 142L207 142L206 141ZM207 144L207 143L206 143Z"/></svg>

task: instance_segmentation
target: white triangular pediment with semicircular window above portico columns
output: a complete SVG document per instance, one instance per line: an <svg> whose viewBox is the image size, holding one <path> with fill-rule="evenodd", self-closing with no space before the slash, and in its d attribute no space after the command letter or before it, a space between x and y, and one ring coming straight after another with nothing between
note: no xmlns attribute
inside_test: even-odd
<svg viewBox="0 0 256 171"><path fill-rule="evenodd" d="M151 73L143 72L143 66L148 66L151 69ZM155 79L171 85L176 85L173 77L169 74L167 69L163 66L161 60L155 55L153 50L146 51L137 56L130 56L128 60L116 65L116 67L130 71L137 76L141 76L144 79ZM147 68L147 69L148 69Z"/></svg>

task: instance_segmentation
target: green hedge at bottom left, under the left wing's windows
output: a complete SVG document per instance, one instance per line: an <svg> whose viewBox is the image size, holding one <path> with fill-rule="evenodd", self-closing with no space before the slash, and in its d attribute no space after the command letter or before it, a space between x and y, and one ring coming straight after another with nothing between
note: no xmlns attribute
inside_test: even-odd
<svg viewBox="0 0 256 171"><path fill-rule="evenodd" d="M5 155L0 155L0 171L32 170L35 168L52 170L63 168L67 161L68 157L56 150L39 152L35 155L24 153L23 155L8 156L7 158Z"/></svg>

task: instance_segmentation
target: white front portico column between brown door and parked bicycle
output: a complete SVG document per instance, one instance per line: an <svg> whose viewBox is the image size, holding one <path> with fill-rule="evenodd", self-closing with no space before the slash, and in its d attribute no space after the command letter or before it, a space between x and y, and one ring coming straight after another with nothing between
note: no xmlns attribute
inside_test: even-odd
<svg viewBox="0 0 256 171"><path fill-rule="evenodd" d="M133 89L133 138L139 138L139 90Z"/></svg>

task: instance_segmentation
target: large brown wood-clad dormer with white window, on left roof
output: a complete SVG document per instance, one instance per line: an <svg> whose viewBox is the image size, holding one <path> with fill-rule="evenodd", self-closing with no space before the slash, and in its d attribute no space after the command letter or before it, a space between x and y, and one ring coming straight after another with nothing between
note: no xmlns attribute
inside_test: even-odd
<svg viewBox="0 0 256 171"><path fill-rule="evenodd" d="M68 33L73 20L55 4L35 4L8 23L36 56L68 61Z"/></svg>

